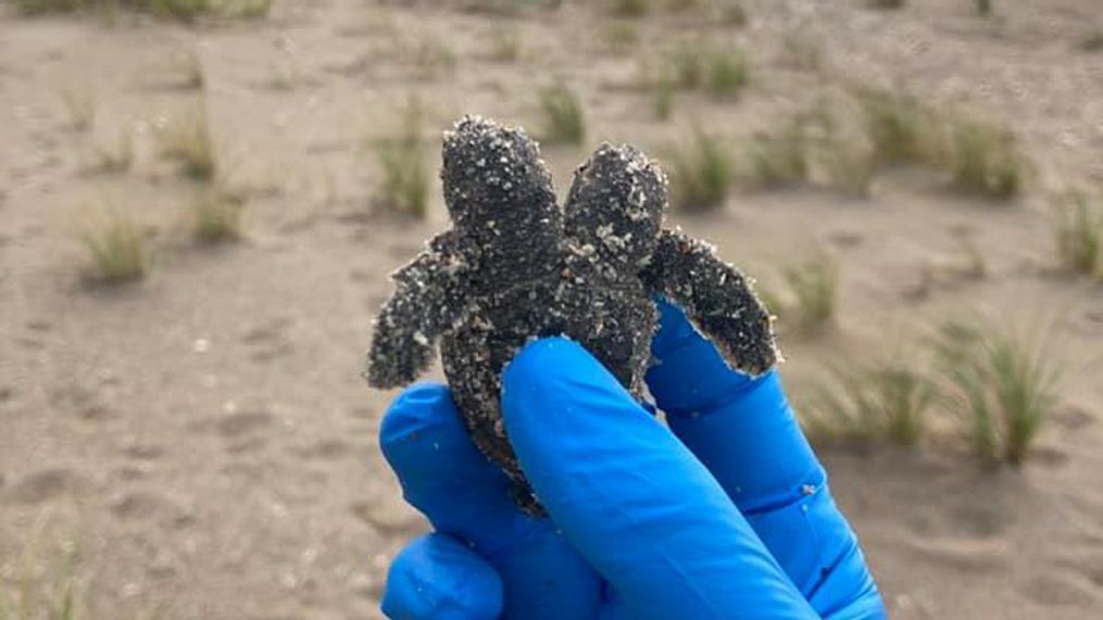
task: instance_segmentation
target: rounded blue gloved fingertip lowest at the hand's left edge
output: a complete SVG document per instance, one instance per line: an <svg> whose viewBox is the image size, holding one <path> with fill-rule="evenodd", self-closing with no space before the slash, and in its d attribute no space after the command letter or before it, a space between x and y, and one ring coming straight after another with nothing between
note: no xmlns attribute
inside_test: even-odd
<svg viewBox="0 0 1103 620"><path fill-rule="evenodd" d="M503 586L494 568L445 534L416 539L395 557L381 608L392 620L496 620Z"/></svg>

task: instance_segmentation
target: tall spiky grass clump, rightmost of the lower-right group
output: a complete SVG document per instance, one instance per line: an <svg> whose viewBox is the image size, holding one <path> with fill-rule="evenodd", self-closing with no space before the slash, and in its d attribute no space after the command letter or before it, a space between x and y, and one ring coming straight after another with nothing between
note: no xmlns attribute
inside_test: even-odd
<svg viewBox="0 0 1103 620"><path fill-rule="evenodd" d="M1020 465L1057 402L1057 367L1024 339L960 323L941 328L935 351L976 454Z"/></svg>

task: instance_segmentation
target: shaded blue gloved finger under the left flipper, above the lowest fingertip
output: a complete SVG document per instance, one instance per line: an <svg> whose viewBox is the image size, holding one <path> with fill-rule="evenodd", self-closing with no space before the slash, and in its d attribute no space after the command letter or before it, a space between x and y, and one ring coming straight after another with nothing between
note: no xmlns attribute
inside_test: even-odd
<svg viewBox="0 0 1103 620"><path fill-rule="evenodd" d="M503 618L592 618L600 578L546 519L523 514L510 482L475 448L448 389L409 388L379 432L383 454L406 500L497 569Z"/></svg>

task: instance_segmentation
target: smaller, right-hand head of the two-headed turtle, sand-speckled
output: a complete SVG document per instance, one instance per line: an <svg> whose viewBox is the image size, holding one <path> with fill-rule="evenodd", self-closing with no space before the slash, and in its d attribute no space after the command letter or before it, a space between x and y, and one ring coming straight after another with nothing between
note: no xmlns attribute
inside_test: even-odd
<svg viewBox="0 0 1103 620"><path fill-rule="evenodd" d="M666 176L631 145L602 144L575 172L565 232L606 262L639 271L651 260L666 206Z"/></svg>

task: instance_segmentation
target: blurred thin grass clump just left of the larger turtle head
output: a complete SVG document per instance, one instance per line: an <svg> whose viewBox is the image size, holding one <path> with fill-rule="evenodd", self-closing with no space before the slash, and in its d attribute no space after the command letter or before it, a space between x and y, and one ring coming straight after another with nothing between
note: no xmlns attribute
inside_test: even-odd
<svg viewBox="0 0 1103 620"><path fill-rule="evenodd" d="M383 176L379 202L387 208L416 218L429 213L430 174L421 141L421 105L411 99L401 111L400 133L376 144Z"/></svg>

